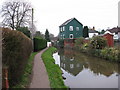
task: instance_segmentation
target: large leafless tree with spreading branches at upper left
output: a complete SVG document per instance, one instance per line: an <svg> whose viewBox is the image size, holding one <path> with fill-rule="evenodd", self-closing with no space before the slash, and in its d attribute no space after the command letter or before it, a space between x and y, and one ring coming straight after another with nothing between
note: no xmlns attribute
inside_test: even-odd
<svg viewBox="0 0 120 90"><path fill-rule="evenodd" d="M31 4L28 2L5 2L2 6L3 26L11 27L13 30L26 26L31 19Z"/></svg>

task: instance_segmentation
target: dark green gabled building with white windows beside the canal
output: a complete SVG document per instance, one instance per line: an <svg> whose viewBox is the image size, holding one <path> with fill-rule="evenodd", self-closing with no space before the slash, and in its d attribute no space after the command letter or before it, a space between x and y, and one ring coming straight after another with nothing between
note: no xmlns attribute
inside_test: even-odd
<svg viewBox="0 0 120 90"><path fill-rule="evenodd" d="M71 18L59 26L59 39L76 39L83 36L83 25Z"/></svg>

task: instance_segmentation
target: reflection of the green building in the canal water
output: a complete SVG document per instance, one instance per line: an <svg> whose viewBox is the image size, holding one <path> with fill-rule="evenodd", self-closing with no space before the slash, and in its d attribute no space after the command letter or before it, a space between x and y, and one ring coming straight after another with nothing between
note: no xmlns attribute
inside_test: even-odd
<svg viewBox="0 0 120 90"><path fill-rule="evenodd" d="M60 55L60 67L76 76L82 71L83 65L75 60L73 52L65 51L64 54L65 55Z"/></svg>

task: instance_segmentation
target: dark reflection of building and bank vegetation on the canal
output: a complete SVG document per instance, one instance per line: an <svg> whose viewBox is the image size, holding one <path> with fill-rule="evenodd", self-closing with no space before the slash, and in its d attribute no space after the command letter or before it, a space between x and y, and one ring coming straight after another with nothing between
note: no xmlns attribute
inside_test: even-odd
<svg viewBox="0 0 120 90"><path fill-rule="evenodd" d="M74 76L81 72L83 67L89 68L96 75L103 74L107 77L115 72L118 73L119 65L114 62L87 56L83 53L70 49L60 51L59 54L61 67Z"/></svg>

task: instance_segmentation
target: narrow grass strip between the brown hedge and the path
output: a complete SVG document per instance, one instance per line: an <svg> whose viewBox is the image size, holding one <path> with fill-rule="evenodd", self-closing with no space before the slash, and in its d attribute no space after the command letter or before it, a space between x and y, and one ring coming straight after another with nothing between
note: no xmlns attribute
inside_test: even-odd
<svg viewBox="0 0 120 90"><path fill-rule="evenodd" d="M25 67L24 74L22 76L22 79L20 83L12 88L26 88L29 85L30 82L30 75L32 73L32 67L33 67L33 59L34 56L37 54L37 52L31 53L29 59L28 59L28 64Z"/></svg>

